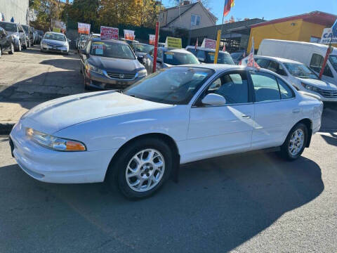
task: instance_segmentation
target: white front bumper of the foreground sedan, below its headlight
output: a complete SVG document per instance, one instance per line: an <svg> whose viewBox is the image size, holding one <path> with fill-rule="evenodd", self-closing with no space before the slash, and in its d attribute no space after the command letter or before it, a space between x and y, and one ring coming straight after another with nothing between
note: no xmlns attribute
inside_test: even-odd
<svg viewBox="0 0 337 253"><path fill-rule="evenodd" d="M60 152L44 148L25 136L21 122L11 131L12 154L32 178L48 183L95 183L105 179L117 150Z"/></svg>

